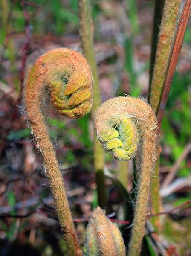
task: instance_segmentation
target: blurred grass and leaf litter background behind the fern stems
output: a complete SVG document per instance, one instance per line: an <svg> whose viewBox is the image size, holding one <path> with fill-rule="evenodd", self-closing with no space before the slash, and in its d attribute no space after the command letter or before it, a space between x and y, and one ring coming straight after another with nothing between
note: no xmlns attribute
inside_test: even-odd
<svg viewBox="0 0 191 256"><path fill-rule="evenodd" d="M153 1L93 0L96 61L104 102L128 94L147 101ZM49 49L81 52L77 0L1 0L0 2L0 255L63 255L42 159L27 127L23 82L35 59ZM161 196L164 210L191 199L191 24L185 33L161 132ZM49 107L48 107L49 108ZM63 119L51 108L47 122L57 148L74 218L88 218L97 202L93 172L93 122ZM107 153L106 171L119 163ZM129 164L131 166L132 163ZM174 175L167 182L170 172ZM123 219L126 204L107 178L107 210ZM131 168L128 187L133 186ZM24 216L24 218L21 218ZM84 243L83 219L76 224ZM168 255L191 255L191 206L162 220ZM128 225L122 225L123 234ZM14 252L13 252L14 251ZM152 254L152 250L149 252Z"/></svg>

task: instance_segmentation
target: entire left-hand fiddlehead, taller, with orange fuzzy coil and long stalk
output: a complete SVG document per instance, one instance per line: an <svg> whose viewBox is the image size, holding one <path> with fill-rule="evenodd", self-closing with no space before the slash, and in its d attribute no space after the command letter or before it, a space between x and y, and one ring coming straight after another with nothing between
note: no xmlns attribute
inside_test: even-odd
<svg viewBox="0 0 191 256"><path fill-rule="evenodd" d="M78 52L59 48L47 52L35 62L25 84L25 105L32 134L43 155L46 177L52 189L55 209L67 242L68 255L81 255L76 240L64 183L43 116L43 97L50 99L59 113L78 118L92 106L92 73Z"/></svg>

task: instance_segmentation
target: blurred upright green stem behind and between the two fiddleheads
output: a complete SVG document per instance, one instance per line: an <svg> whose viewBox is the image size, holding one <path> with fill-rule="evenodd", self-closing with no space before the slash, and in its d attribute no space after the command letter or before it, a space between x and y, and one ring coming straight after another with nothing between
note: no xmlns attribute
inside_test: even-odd
<svg viewBox="0 0 191 256"><path fill-rule="evenodd" d="M93 46L93 20L89 0L79 0L80 37L83 53L90 64L93 74L93 108L92 116L101 104L98 71ZM98 190L98 204L101 208L106 207L106 190L104 177L104 150L100 142L94 137L94 168Z"/></svg>

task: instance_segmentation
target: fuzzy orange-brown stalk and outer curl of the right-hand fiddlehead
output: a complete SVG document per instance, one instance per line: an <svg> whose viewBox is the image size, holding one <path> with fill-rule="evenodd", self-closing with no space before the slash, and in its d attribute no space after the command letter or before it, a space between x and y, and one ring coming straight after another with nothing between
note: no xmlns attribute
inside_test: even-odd
<svg viewBox="0 0 191 256"><path fill-rule="evenodd" d="M104 102L96 112L95 128L98 138L103 130L106 131L105 134L110 134L109 127L113 127L116 124L119 125L120 117L122 117L122 122L124 122L125 116L126 119L130 119L134 123L136 129L139 131L139 143L136 155L139 182L137 184L137 200L128 252L129 256L139 256L142 248L142 239L145 235L150 180L153 166L156 162L156 145L158 144L157 121L150 106L142 100L129 96L116 97ZM120 136L122 135L119 130L119 138ZM101 138L103 138L102 134ZM103 143L103 141L101 142ZM119 145L118 149L119 154L120 151L124 153L123 145ZM134 157L134 154L131 157ZM123 160L121 154L118 158Z"/></svg>

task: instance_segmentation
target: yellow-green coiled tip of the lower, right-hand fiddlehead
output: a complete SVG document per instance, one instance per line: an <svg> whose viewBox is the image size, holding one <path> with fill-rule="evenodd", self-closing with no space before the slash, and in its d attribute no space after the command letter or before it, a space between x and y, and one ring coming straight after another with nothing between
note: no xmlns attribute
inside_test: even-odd
<svg viewBox="0 0 191 256"><path fill-rule="evenodd" d="M122 97L121 97L122 98ZM119 109L115 99L104 102L95 115L98 139L116 160L127 161L137 151L139 133L132 116Z"/></svg>

